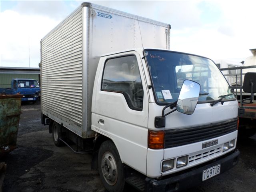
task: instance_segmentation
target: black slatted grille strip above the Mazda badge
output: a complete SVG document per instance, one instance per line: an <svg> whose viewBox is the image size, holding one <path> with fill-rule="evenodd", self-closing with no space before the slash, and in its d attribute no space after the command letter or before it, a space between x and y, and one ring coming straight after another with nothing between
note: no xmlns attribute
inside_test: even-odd
<svg viewBox="0 0 256 192"><path fill-rule="evenodd" d="M211 123L210 125L166 130L164 148L216 138L235 130L237 130L237 118L219 123Z"/></svg>

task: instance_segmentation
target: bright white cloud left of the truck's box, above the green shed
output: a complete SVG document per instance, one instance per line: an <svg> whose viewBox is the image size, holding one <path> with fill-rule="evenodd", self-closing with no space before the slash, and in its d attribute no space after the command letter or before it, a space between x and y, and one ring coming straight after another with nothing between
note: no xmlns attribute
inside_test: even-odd
<svg viewBox="0 0 256 192"><path fill-rule="evenodd" d="M38 67L40 62L40 40L58 20L34 15L28 16L13 10L0 13L0 66L28 67L28 38L30 45L30 66Z"/></svg>

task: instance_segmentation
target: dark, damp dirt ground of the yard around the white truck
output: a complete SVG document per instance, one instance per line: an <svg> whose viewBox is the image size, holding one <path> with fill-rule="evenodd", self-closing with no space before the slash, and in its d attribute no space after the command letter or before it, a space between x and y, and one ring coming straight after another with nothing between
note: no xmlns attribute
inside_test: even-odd
<svg viewBox="0 0 256 192"><path fill-rule="evenodd" d="M7 172L4 192L105 192L91 154L75 154L56 147L48 126L40 124L40 104L22 103L18 148L2 158ZM232 170L186 192L255 192L256 135L238 140L240 161ZM136 191L125 186L126 191Z"/></svg>

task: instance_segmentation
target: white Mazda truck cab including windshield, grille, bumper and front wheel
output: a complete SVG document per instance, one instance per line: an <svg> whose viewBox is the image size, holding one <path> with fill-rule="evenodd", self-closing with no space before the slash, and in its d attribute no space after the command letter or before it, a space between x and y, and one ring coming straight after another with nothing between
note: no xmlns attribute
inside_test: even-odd
<svg viewBox="0 0 256 192"><path fill-rule="evenodd" d="M104 55L94 82L92 130L116 152L100 149L100 176L113 190L121 162L145 175L148 188L168 183L182 190L188 180L193 186L220 174L238 162L237 114L232 89L208 58L142 48ZM178 172L187 176L174 179Z"/></svg>

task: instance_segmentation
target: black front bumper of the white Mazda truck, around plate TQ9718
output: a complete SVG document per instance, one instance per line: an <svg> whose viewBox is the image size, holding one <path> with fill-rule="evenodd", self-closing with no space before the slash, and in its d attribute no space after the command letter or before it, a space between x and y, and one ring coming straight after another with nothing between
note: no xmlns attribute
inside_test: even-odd
<svg viewBox="0 0 256 192"><path fill-rule="evenodd" d="M202 165L184 170L181 173L165 176L160 180L146 178L145 191L147 192L174 192L181 191L193 186L198 186L202 182L203 170L221 164L220 174L231 169L238 163L240 152L234 150L224 156L206 162Z"/></svg>

